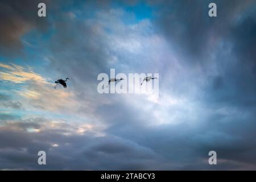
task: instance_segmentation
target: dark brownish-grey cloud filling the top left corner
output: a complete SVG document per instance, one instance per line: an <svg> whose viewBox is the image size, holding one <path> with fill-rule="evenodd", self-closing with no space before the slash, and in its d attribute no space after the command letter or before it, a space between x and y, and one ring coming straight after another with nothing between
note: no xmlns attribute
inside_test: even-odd
<svg viewBox="0 0 256 182"><path fill-rule="evenodd" d="M47 18L38 17L38 3L49 1L0 2L0 53L4 56L19 55L23 48L22 36L27 32L46 30Z"/></svg>

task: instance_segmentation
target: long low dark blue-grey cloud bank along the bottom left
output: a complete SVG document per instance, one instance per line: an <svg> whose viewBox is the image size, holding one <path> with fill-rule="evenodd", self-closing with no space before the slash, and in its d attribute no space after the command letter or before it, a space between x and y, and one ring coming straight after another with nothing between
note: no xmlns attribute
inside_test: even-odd
<svg viewBox="0 0 256 182"><path fill-rule="evenodd" d="M42 131L28 133L23 130L24 126L34 126L33 122ZM64 137L63 132L71 129L72 125L65 124L61 130L43 129L43 122L47 121L30 119L30 123L21 127L20 123L1 127L1 169L145 169L150 168L148 164L153 164L153 159L157 158L149 148L126 139L93 137L90 133L72 133ZM52 146L55 143L57 147ZM47 153L47 166L37 164L40 150Z"/></svg>

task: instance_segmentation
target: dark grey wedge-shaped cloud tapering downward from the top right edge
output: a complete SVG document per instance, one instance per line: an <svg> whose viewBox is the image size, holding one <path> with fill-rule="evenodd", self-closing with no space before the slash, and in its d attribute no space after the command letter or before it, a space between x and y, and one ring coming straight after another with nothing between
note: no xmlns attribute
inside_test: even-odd
<svg viewBox="0 0 256 182"><path fill-rule="evenodd" d="M253 1L214 1L217 17L208 16L208 5L212 1L160 1L161 11L156 12L159 30L173 45L175 51L187 61L208 61L218 41L230 34L242 10L253 5ZM163 6L164 5L164 6Z"/></svg>

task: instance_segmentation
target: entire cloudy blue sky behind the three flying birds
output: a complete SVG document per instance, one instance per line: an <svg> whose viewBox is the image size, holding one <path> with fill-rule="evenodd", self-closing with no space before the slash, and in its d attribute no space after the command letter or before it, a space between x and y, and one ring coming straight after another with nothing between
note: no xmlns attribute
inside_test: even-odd
<svg viewBox="0 0 256 182"><path fill-rule="evenodd" d="M250 0L1 0L0 169L255 170L255 10ZM98 93L112 68L159 73L159 97Z"/></svg>

